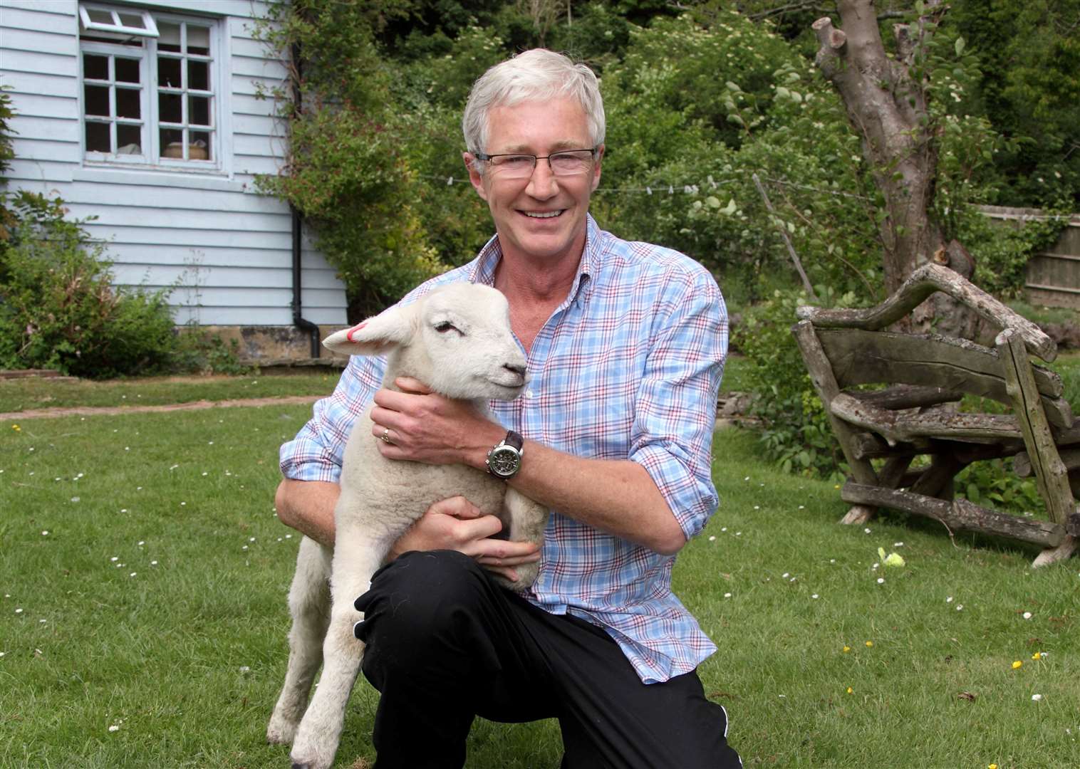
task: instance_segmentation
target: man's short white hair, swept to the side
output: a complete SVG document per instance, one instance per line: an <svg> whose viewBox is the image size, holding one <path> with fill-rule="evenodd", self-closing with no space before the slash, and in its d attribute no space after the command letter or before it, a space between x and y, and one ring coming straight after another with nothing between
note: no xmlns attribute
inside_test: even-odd
<svg viewBox="0 0 1080 769"><path fill-rule="evenodd" d="M589 121L592 146L604 144L604 99L596 75L561 53L532 49L495 65L473 83L461 119L465 147L470 152L486 150L487 118L492 107L559 97L578 100Z"/></svg>

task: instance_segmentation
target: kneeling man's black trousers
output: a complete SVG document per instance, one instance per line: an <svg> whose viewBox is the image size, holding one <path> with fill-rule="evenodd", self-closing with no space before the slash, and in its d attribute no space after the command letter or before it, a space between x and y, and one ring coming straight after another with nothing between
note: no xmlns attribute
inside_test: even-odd
<svg viewBox="0 0 1080 769"><path fill-rule="evenodd" d="M727 713L696 672L642 684L608 634L500 589L472 558L406 553L356 599L381 692L376 769L458 768L473 718L558 718L563 769L730 769Z"/></svg>

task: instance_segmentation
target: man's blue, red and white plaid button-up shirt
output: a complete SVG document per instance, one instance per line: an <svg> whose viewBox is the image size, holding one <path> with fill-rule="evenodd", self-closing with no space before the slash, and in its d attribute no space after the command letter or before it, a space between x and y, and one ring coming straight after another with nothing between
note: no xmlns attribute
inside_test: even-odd
<svg viewBox="0 0 1080 769"><path fill-rule="evenodd" d="M414 291L455 281L494 285L492 238L470 264ZM579 457L631 459L656 482L687 538L716 510L711 478L716 395L728 318L713 276L688 257L600 230L589 217L581 269L528 355L531 377L497 419ZM383 360L353 356L329 397L281 447L286 477L336 482L353 420L369 405ZM526 456L525 461L528 461ZM607 630L646 684L687 673L716 647L671 591L661 555L553 510L540 572L525 596Z"/></svg>

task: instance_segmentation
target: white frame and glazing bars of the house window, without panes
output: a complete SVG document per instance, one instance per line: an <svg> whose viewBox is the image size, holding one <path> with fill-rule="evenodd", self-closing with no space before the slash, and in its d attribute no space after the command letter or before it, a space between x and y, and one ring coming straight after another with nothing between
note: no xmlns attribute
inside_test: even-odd
<svg viewBox="0 0 1080 769"><path fill-rule="evenodd" d="M89 15L84 14L87 9L97 11L107 11L116 14L117 11L122 11L124 13L143 13L149 16L149 22L147 29L138 30L132 27L122 27L122 25L108 26L100 22L91 22L90 25L86 24ZM224 98L224 85L226 83L225 77L225 46L222 43L222 38L225 33L225 22L221 18L214 18L208 16L198 16L198 15L185 15L185 14L174 14L167 12L160 12L153 10L144 10L139 8L132 6L109 6L98 3L80 3L79 5L80 16L82 17L82 29L81 33L89 33L94 37L105 36L108 38L116 38L116 43L104 42L100 40L83 40L79 41L79 114L80 123L82 130L80 131L80 144L82 146L83 161L85 165L96 165L96 166L124 166L126 168L144 168L144 170L158 170L158 171L177 171L177 172L194 172L194 173L210 173L210 174L221 174L226 172L227 159L225 156L226 138L225 138L225 125L226 125L226 99ZM119 16L113 15L114 21L119 23ZM161 56L164 58L178 58L181 62L180 72L181 72L181 84L179 87L167 87L161 86L158 83L158 40L160 38L160 29L158 27L159 23L163 24L176 24L180 25L181 30L181 50L180 53L173 52L161 52ZM154 35L151 37L147 32L149 31L149 25L153 25ZM93 26L91 26L93 25ZM199 27L205 27L208 31L208 55L202 56L199 54L188 54L186 46L184 45L184 38L186 36L187 26L193 25ZM80 36L81 37L81 36ZM141 45L125 45L123 41L131 40L133 37L138 37L141 40ZM84 72L84 55L96 55L96 56L110 56L119 58L138 58L139 64L139 114L143 124L140 133L140 144L139 147L143 150L139 154L121 154L118 152L102 152L96 150L86 149L86 129L87 122L106 122L106 121L95 121L87 120L93 116L86 114L86 104L85 104L85 86L86 85L110 85L110 105L114 105L114 90L116 78L114 78L114 67L110 64L109 75L111 82L106 83L104 81L95 81L94 79L89 79ZM207 91L195 91L186 87L187 86L187 71L188 67L183 64L188 59L194 60L205 60L208 65L208 82ZM180 96L181 100L181 122L171 123L166 122L162 125L160 117L160 106L159 98L161 94L177 94ZM210 125L197 125L190 122L190 114L188 114L189 109L189 96L197 97L208 97L210 98ZM116 141L116 125L123 124L127 122L129 124L134 122L133 120L124 121L116 116L114 106L110 107L112 112L107 119L110 124L110 147L116 146L119 149L119 144ZM187 118L187 120L184 120ZM164 158L162 157L162 146L161 146L161 131L162 130L175 130L185 131L188 133L206 133L211 137L211 158L210 160L197 160L197 159L184 159L184 158ZM185 153L190 152L191 138L188 139L188 147L184 148ZM181 141L181 145L184 143Z"/></svg>

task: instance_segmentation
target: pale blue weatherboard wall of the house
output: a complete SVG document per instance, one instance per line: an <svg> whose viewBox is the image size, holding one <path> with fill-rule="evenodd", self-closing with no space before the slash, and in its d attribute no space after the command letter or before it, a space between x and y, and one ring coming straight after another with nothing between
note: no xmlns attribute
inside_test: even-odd
<svg viewBox="0 0 1080 769"><path fill-rule="evenodd" d="M125 3L112 3L125 4ZM177 323L292 324L292 238L287 206L254 191L256 174L276 173L284 148L273 102L256 83L284 77L252 38L249 0L132 3L225 18L222 167L213 174L120 168L82 157L77 0L0 0L0 84L16 117L9 188L58 194L108 243L118 284L173 292ZM307 320L346 322L345 288L307 243L301 302Z"/></svg>

